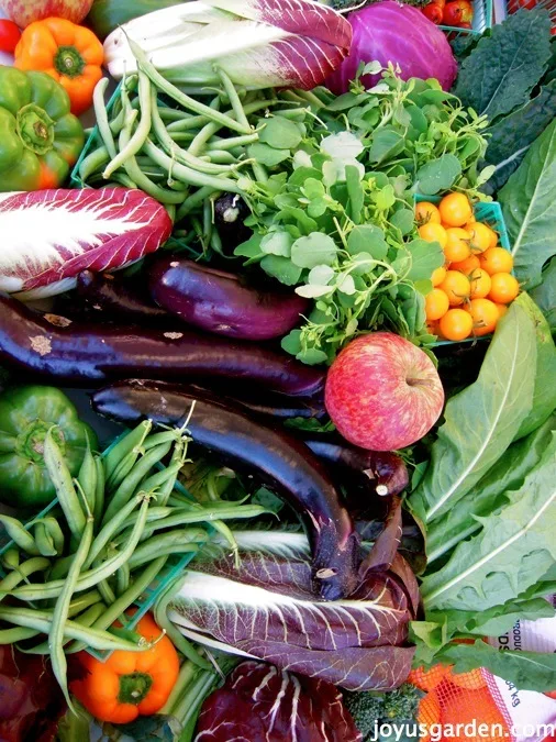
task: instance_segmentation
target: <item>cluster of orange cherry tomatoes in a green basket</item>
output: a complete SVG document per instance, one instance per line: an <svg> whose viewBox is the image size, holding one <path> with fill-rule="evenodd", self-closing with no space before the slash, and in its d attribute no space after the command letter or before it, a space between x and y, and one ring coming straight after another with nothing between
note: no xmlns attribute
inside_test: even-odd
<svg viewBox="0 0 556 742"><path fill-rule="evenodd" d="M431 332L453 341L491 333L520 290L511 254L488 224L476 221L464 193L448 193L437 207L421 201L415 219L420 236L438 242L446 257L425 297Z"/></svg>

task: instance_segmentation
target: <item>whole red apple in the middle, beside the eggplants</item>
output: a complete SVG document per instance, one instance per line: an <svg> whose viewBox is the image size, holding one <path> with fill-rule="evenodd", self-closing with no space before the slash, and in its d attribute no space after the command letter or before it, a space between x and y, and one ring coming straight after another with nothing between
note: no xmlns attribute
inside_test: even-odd
<svg viewBox="0 0 556 742"><path fill-rule="evenodd" d="M431 430L444 389L426 353L399 335L375 332L354 340L334 361L325 405L346 441L393 451Z"/></svg>

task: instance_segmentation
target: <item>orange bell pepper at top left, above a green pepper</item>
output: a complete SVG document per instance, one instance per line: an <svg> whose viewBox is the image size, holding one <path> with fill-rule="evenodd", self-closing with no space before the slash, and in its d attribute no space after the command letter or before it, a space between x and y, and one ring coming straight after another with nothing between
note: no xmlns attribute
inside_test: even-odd
<svg viewBox="0 0 556 742"><path fill-rule="evenodd" d="M14 57L14 67L54 77L68 92L75 115L91 107L104 51L89 29L62 18L35 21L23 31Z"/></svg>

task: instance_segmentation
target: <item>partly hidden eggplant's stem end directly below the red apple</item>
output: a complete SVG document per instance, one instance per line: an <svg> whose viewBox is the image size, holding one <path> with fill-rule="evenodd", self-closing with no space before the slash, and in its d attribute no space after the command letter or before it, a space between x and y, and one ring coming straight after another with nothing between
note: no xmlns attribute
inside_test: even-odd
<svg viewBox="0 0 556 742"><path fill-rule="evenodd" d="M379 496L399 495L409 484L408 467L394 453L367 451L329 439L304 439L304 442L319 458L368 477Z"/></svg>

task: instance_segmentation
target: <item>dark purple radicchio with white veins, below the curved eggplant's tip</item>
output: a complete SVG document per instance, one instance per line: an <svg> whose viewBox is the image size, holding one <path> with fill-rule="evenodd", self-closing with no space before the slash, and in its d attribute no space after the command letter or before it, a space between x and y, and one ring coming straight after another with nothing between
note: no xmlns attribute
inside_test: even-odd
<svg viewBox="0 0 556 742"><path fill-rule="evenodd" d="M169 603L182 633L351 690L387 690L411 668L404 584L369 572L346 600L315 600L308 561L258 552L196 562Z"/></svg>

